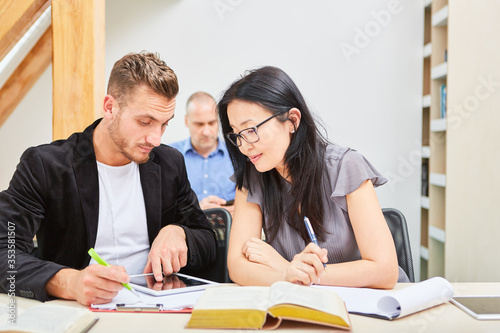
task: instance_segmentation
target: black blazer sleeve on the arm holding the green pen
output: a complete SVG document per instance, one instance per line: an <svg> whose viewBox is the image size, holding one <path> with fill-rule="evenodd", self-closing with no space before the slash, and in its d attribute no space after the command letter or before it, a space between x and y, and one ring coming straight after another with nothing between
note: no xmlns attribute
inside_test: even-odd
<svg viewBox="0 0 500 333"><path fill-rule="evenodd" d="M30 148L9 188L0 192L0 291L40 301L49 299L47 281L65 267L31 255L45 214L44 172L36 148Z"/></svg>

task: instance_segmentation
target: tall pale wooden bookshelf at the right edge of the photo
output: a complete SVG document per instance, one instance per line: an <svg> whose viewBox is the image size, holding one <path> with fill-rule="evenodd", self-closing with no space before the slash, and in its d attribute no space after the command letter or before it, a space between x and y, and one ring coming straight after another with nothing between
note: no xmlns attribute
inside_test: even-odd
<svg viewBox="0 0 500 333"><path fill-rule="evenodd" d="M498 281L500 1L423 10L420 279Z"/></svg>

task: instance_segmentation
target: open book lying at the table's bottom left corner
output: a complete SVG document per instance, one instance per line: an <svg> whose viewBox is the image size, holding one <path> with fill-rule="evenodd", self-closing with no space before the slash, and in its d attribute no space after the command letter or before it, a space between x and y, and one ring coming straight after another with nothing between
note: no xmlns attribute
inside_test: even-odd
<svg viewBox="0 0 500 333"><path fill-rule="evenodd" d="M87 332L98 319L88 309L49 302L26 310L16 308L16 312L15 318L8 316L7 321L2 320L0 332L81 333Z"/></svg>

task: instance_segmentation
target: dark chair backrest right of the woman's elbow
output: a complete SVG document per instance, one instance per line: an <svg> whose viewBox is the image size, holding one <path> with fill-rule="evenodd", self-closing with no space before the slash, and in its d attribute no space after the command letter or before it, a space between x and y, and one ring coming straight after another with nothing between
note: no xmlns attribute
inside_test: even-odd
<svg viewBox="0 0 500 333"><path fill-rule="evenodd" d="M401 267L411 282L415 282L415 274L413 272L413 260L411 257L410 237L408 236L408 226L406 219L399 210L395 208L383 208L387 225L391 230L396 253L398 255L398 264Z"/></svg>

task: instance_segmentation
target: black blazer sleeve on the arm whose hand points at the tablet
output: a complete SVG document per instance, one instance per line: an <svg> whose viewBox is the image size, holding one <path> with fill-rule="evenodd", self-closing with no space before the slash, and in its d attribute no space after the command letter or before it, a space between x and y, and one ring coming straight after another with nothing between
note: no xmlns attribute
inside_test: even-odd
<svg viewBox="0 0 500 333"><path fill-rule="evenodd" d="M175 224L184 229L188 246L186 269L201 270L215 261L216 239L207 217L198 203L196 194L191 189L187 178L184 158L179 165L179 186Z"/></svg>

